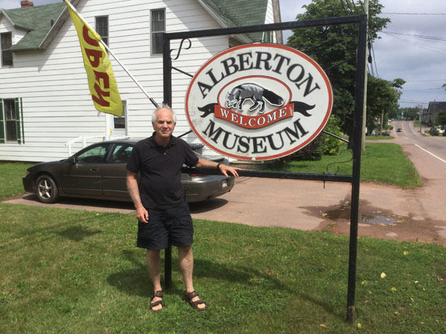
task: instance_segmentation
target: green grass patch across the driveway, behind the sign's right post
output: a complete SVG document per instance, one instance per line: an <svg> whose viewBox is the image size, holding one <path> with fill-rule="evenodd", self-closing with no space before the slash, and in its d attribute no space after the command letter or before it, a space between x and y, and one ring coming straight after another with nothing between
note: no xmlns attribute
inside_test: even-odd
<svg viewBox="0 0 446 334"><path fill-rule="evenodd" d="M342 144L342 151L339 155L324 155L322 159L316 161L289 162L285 168L266 165L264 169L351 175L353 155L346 149L347 144ZM366 142L366 149L361 155L361 181L388 183L399 185L401 188L414 188L422 185L418 172L403 153L401 146L378 142Z"/></svg>

